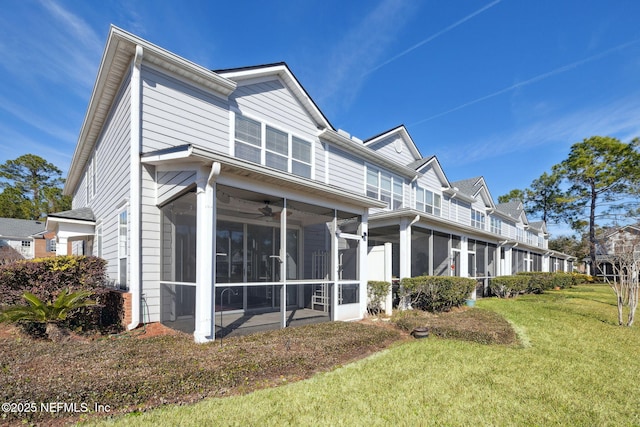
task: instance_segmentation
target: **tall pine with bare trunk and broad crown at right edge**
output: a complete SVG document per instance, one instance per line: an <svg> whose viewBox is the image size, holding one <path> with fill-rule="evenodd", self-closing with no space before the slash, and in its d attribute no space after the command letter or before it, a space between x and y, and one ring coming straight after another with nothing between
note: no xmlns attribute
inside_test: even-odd
<svg viewBox="0 0 640 427"><path fill-rule="evenodd" d="M626 144L616 138L593 136L571 146L569 156L553 171L570 185L574 218L589 212L589 258L596 262L596 209L633 194L640 182L640 153L636 138Z"/></svg>

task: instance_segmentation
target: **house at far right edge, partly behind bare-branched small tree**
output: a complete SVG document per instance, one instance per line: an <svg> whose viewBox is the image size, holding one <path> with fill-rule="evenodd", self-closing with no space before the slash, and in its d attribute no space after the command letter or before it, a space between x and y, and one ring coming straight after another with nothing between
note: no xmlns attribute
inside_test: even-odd
<svg viewBox="0 0 640 427"><path fill-rule="evenodd" d="M640 265L640 223L615 227L597 240L596 276L615 282L621 265Z"/></svg>

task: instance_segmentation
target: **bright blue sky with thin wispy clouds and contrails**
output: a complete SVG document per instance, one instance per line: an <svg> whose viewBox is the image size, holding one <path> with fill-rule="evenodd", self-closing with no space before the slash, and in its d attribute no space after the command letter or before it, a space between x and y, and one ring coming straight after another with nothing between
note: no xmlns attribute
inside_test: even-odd
<svg viewBox="0 0 640 427"><path fill-rule="evenodd" d="M33 153L66 172L110 24L210 69L285 61L334 127L404 124L494 199L584 138L640 136L635 0L0 5L0 162Z"/></svg>

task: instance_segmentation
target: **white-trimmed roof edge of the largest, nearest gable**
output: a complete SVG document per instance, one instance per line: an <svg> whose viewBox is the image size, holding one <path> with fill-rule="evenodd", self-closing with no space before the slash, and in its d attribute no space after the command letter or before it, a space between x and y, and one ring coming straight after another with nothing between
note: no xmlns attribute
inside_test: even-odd
<svg viewBox="0 0 640 427"><path fill-rule="evenodd" d="M251 67L227 68L215 70L214 72L236 82L238 85L250 84L259 79L278 77L315 120L319 128L334 129L326 116L320 111L315 101L309 96L306 89L300 84L300 81L293 74L286 62L254 65Z"/></svg>

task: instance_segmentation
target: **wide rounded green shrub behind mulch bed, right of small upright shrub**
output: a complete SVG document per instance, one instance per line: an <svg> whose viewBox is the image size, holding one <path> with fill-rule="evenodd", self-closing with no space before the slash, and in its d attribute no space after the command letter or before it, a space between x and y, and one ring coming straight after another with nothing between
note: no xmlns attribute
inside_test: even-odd
<svg viewBox="0 0 640 427"><path fill-rule="evenodd" d="M461 306L476 286L474 279L446 276L405 278L400 284L415 308L433 312Z"/></svg>

